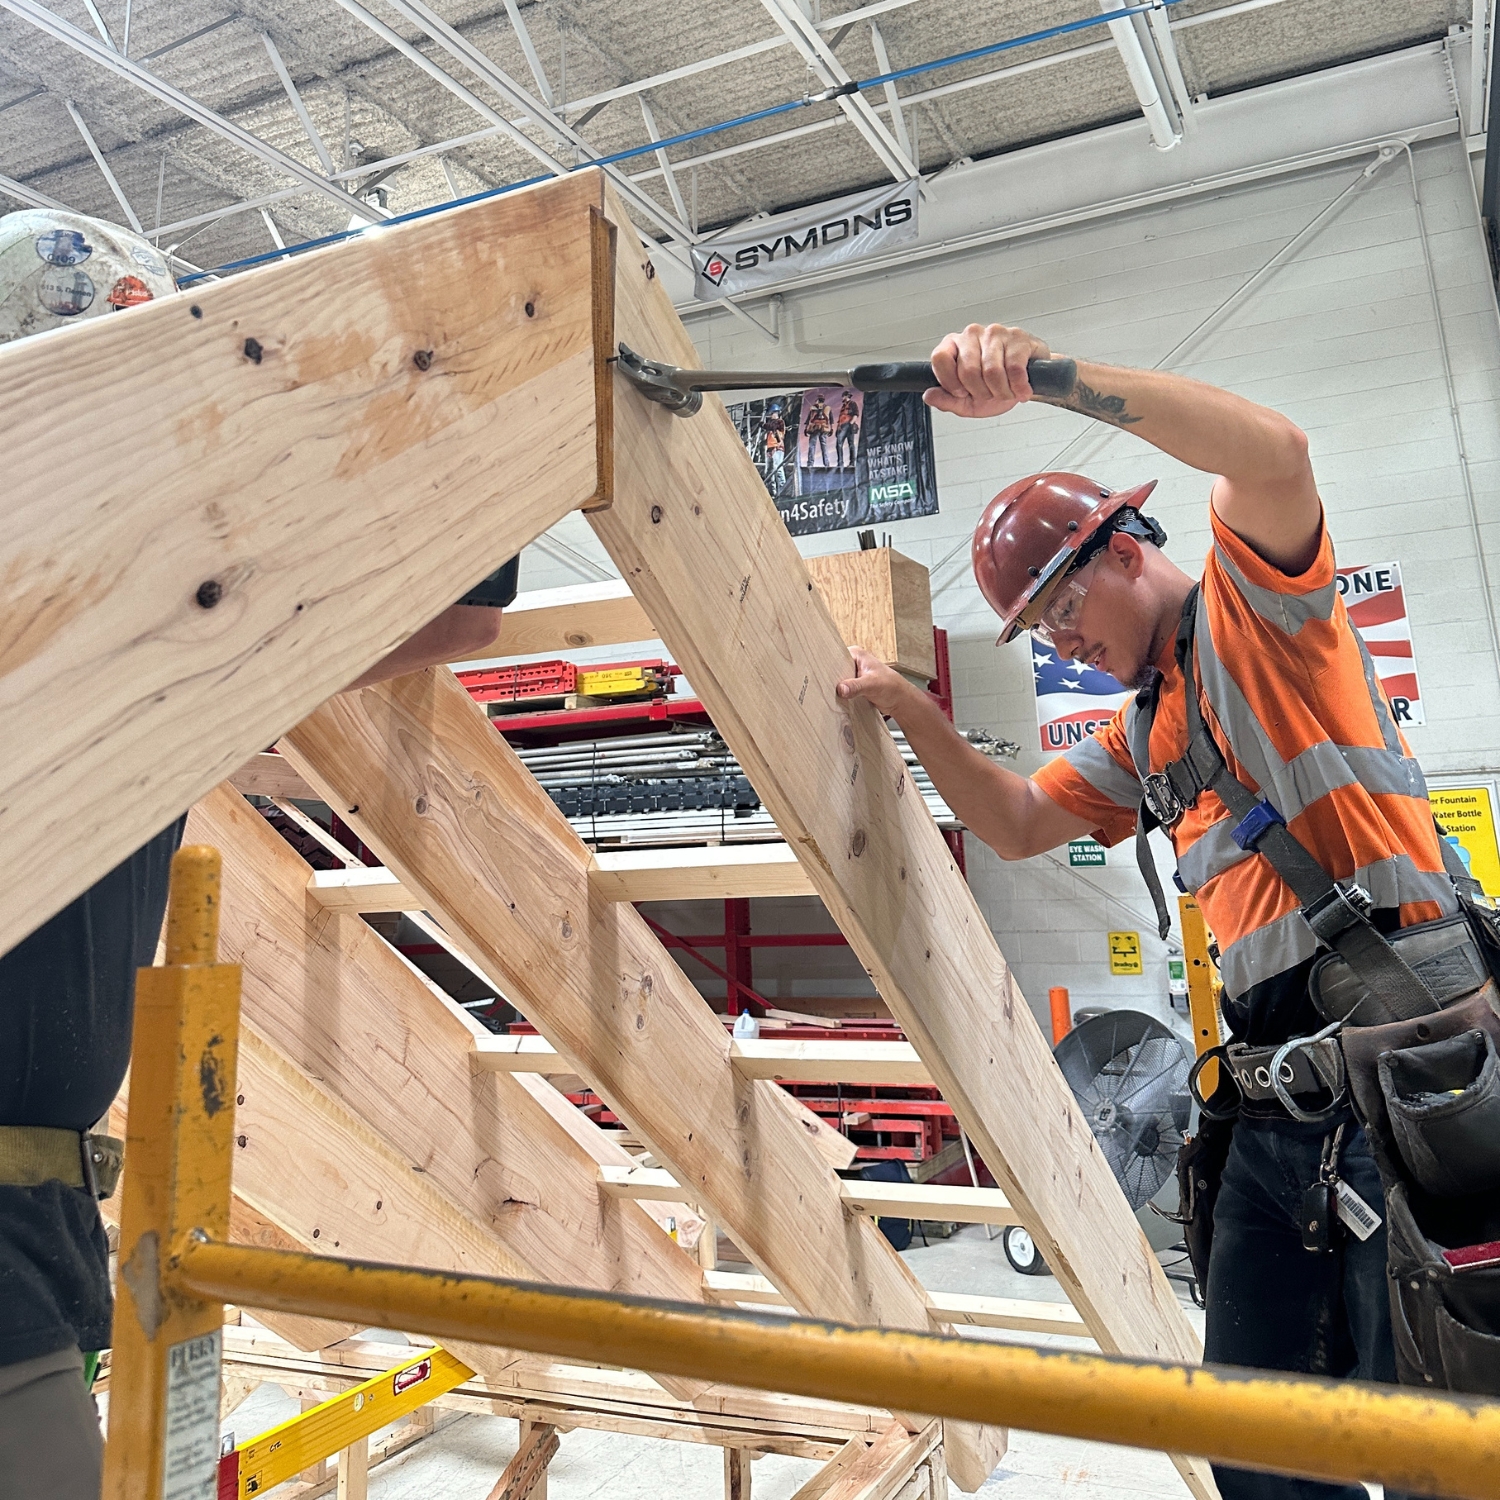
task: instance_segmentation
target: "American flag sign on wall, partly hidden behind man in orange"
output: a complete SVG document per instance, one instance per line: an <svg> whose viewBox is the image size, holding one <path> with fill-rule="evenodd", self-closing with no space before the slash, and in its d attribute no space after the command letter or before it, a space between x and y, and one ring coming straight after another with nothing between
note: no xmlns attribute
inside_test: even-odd
<svg viewBox="0 0 1500 1500"><path fill-rule="evenodd" d="M1378 562L1336 570L1338 592L1390 699L1396 724L1425 724L1422 688L1416 678L1412 620L1401 588L1401 564ZM1060 754L1108 723L1131 696L1124 682L1082 662L1064 662L1035 636L1032 682L1036 688L1036 730L1047 754Z"/></svg>

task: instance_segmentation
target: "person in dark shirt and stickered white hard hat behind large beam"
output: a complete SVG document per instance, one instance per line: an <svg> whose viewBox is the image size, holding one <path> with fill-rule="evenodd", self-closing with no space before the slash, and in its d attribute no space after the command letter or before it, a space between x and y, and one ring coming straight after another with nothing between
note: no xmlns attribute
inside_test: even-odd
<svg viewBox="0 0 1500 1500"><path fill-rule="evenodd" d="M52 210L0 219L0 342L174 292L162 255ZM512 561L351 687L478 654L514 592ZM130 1058L135 970L153 962L178 818L0 956L0 1494L98 1500L88 1383L110 1347L110 1256L96 1197L118 1142L90 1134Z"/></svg>

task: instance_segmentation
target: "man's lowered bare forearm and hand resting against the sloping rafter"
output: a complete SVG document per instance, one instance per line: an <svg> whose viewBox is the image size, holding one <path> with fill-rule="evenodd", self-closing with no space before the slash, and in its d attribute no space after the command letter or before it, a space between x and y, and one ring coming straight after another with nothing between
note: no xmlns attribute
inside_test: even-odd
<svg viewBox="0 0 1500 1500"><path fill-rule="evenodd" d="M879 657L854 648L855 675L838 684L843 699L862 698L890 714L958 820L1002 860L1026 860L1089 832L1035 782L981 754L921 688Z"/></svg>

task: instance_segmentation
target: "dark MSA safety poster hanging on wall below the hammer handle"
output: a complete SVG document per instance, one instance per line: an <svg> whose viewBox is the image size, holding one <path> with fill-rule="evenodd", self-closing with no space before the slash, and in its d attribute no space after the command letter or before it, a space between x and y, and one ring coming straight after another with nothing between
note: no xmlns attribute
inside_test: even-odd
<svg viewBox="0 0 1500 1500"><path fill-rule="evenodd" d="M938 513L920 392L814 386L741 402L729 417L794 537Z"/></svg>

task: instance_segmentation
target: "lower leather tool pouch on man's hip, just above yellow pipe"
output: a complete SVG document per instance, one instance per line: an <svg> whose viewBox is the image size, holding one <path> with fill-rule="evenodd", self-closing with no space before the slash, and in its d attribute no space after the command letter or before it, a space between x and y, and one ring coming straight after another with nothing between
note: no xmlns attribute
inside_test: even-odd
<svg viewBox="0 0 1500 1500"><path fill-rule="evenodd" d="M1386 1192L1386 1215L1401 1384L1500 1395L1500 1266L1455 1270L1419 1228L1401 1182Z"/></svg>

